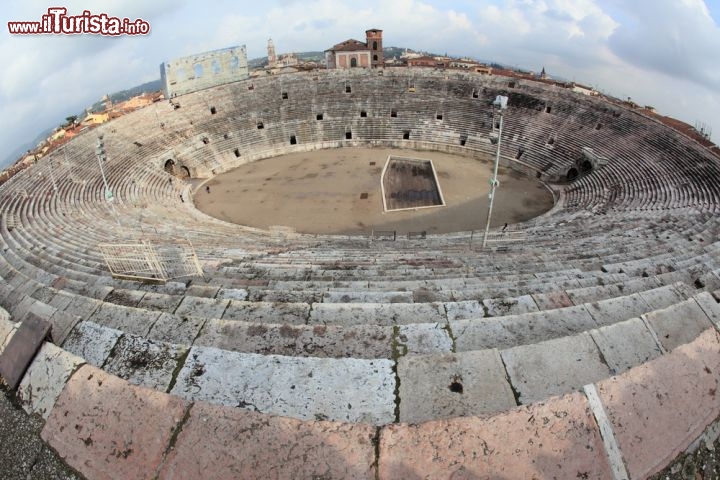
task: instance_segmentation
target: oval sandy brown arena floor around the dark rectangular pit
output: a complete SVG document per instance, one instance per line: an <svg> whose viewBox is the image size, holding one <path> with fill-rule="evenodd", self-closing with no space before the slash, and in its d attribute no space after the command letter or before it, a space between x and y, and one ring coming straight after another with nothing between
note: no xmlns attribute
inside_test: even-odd
<svg viewBox="0 0 720 480"><path fill-rule="evenodd" d="M432 159L446 206L384 213L380 175L389 154ZM284 225L321 234L482 230L491 170L491 158L383 148L320 150L242 165L209 180L193 200L208 215L263 229ZM493 226L527 220L553 206L550 192L534 179L502 168L498 179ZM361 200L363 193L367 199Z"/></svg>

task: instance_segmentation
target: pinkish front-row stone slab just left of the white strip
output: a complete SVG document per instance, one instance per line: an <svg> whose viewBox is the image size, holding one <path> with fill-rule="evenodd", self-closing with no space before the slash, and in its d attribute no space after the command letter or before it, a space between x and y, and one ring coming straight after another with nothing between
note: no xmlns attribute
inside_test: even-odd
<svg viewBox="0 0 720 480"><path fill-rule="evenodd" d="M490 418L396 424L380 432L379 477L611 478L580 393Z"/></svg>

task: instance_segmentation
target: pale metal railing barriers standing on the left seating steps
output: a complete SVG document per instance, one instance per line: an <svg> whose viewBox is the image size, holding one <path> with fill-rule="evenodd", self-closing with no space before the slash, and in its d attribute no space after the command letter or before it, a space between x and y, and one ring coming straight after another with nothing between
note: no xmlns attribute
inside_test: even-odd
<svg viewBox="0 0 720 480"><path fill-rule="evenodd" d="M195 248L185 243L156 246L148 241L99 244L98 248L113 278L165 283L181 277L203 276Z"/></svg>

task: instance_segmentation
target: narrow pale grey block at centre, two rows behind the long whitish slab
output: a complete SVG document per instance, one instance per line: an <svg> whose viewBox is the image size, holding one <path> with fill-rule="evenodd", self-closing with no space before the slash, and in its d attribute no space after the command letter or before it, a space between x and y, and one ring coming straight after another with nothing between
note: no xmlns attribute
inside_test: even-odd
<svg viewBox="0 0 720 480"><path fill-rule="evenodd" d="M447 323L439 303L314 303L311 324L406 325Z"/></svg>

